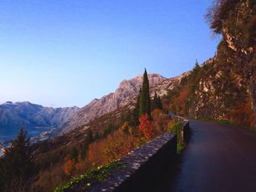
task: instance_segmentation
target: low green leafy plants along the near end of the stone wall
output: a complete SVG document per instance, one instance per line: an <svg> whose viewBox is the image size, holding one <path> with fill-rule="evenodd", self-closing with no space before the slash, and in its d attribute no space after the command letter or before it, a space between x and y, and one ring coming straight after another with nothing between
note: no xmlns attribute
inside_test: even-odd
<svg viewBox="0 0 256 192"><path fill-rule="evenodd" d="M105 166L97 166L91 172L87 174L81 174L79 177L70 180L69 183L55 188L54 192L68 192L79 187L83 188L83 190L86 190L86 188L90 188L93 183L97 183L108 177L111 170L121 169L124 167L125 165L118 161L113 161L110 164L106 164Z"/></svg>

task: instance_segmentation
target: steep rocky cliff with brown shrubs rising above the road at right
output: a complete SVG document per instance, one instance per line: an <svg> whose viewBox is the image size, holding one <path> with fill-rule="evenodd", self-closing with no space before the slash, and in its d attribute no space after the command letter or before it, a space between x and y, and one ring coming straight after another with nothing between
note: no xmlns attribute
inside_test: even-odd
<svg viewBox="0 0 256 192"><path fill-rule="evenodd" d="M168 107L192 118L255 127L256 2L215 1L207 17L214 33L222 36L217 54L169 91Z"/></svg>

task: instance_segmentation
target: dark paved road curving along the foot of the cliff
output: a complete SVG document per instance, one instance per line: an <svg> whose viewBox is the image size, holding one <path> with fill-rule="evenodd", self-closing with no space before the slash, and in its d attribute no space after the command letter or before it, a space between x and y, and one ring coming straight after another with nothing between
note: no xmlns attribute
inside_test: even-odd
<svg viewBox="0 0 256 192"><path fill-rule="evenodd" d="M256 134L191 121L192 137L164 191L255 192Z"/></svg>

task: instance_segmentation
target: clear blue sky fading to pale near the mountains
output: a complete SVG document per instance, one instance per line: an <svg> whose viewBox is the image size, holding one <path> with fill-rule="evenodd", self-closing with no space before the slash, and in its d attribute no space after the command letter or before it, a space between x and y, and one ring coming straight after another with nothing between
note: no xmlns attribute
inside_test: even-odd
<svg viewBox="0 0 256 192"><path fill-rule="evenodd" d="M0 103L82 107L123 79L214 55L210 0L0 1Z"/></svg>

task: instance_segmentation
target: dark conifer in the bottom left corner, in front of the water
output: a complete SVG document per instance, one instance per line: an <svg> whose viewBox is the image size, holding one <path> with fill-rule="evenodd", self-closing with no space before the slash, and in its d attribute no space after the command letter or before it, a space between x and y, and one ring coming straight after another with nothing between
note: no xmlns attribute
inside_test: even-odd
<svg viewBox="0 0 256 192"><path fill-rule="evenodd" d="M34 162L27 132L20 128L17 139L11 142L0 162L0 191L31 191ZM3 188L2 188L3 187Z"/></svg>

